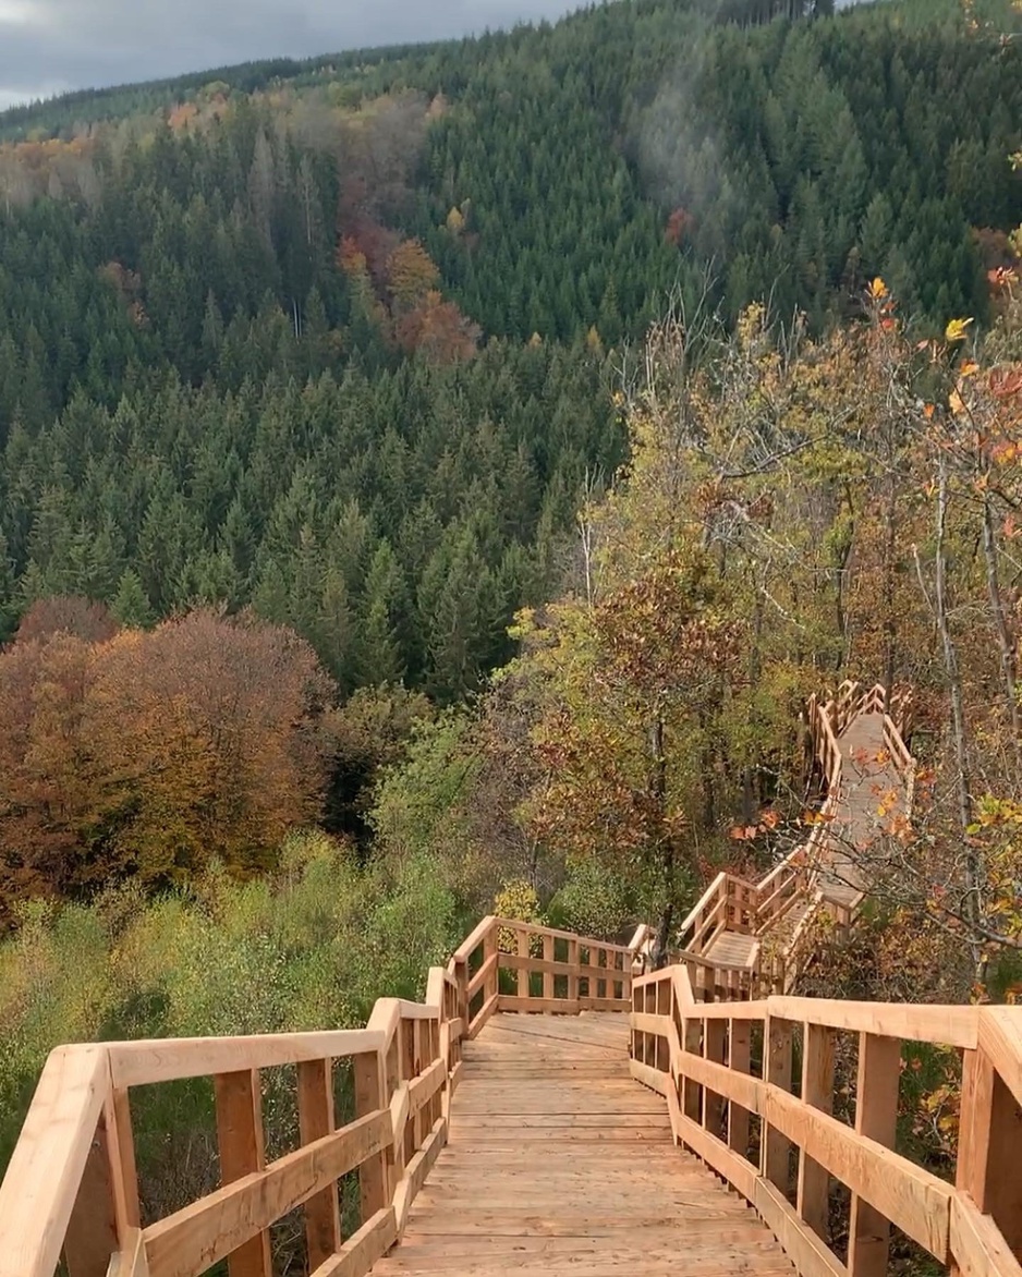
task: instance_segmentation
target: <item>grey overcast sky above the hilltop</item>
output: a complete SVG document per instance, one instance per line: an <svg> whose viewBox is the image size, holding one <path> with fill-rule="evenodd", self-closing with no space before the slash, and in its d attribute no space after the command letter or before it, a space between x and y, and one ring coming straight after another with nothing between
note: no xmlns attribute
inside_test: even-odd
<svg viewBox="0 0 1022 1277"><path fill-rule="evenodd" d="M0 0L0 107L253 57L461 36L579 0Z"/></svg>

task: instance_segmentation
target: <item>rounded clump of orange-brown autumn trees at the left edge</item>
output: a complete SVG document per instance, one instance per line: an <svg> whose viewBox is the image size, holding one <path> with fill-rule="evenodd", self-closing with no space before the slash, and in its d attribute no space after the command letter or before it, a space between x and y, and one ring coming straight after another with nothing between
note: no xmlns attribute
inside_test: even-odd
<svg viewBox="0 0 1022 1277"><path fill-rule="evenodd" d="M0 653L0 890L82 895L126 875L268 866L318 817L333 687L293 631L195 612Z"/></svg>

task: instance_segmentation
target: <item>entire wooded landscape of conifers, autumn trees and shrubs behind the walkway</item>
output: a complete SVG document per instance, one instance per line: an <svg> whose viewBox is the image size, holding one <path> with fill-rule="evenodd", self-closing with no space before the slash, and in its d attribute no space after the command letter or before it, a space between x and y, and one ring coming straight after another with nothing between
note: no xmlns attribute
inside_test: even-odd
<svg viewBox="0 0 1022 1277"><path fill-rule="evenodd" d="M814 978L1018 995L1019 29L617 0L0 115L0 1156L68 1036L678 917L846 677L922 771Z"/></svg>

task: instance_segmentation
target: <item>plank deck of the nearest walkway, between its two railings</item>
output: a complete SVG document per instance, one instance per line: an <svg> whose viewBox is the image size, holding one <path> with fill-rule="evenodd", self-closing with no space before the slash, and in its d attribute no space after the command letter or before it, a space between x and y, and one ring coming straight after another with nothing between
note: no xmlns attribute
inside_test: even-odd
<svg viewBox="0 0 1022 1277"><path fill-rule="evenodd" d="M745 1202L673 1145L663 1098L629 1077L627 1034L620 1014L494 1015L373 1273L791 1277Z"/></svg>

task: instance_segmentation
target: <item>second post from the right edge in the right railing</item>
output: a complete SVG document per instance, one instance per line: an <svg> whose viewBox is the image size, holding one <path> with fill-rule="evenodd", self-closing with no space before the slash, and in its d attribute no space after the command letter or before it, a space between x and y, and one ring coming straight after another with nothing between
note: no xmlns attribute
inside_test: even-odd
<svg viewBox="0 0 1022 1277"><path fill-rule="evenodd" d="M898 1122L902 1045L875 1033L858 1036L858 1083L855 1099L856 1134L894 1147ZM852 1194L848 1228L851 1277L883 1277L890 1248L890 1223L862 1198Z"/></svg>

